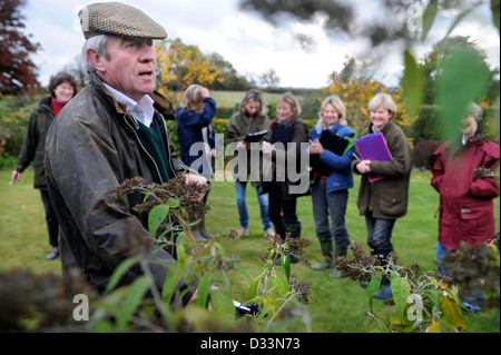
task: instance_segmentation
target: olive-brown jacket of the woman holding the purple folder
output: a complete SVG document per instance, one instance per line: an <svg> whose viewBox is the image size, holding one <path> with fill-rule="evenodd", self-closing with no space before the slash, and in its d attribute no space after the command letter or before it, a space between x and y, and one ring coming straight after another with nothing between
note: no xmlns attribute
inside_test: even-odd
<svg viewBox="0 0 501 355"><path fill-rule="evenodd" d="M372 134L372 124L360 137ZM381 130L386 139L392 155L392 161L371 162L371 174L384 178L369 181L367 175L362 175L360 181L357 207L361 216L372 213L374 218L395 219L407 213L409 186L413 165L412 149L402 129L394 122L389 121ZM355 166L357 160L352 161L352 168L358 174Z"/></svg>

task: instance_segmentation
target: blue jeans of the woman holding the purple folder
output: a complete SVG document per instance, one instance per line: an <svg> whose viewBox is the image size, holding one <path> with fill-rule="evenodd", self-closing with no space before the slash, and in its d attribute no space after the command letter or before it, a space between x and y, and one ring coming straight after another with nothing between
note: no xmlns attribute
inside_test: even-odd
<svg viewBox="0 0 501 355"><path fill-rule="evenodd" d="M385 259L393 252L391 243L393 226L396 219L381 219L372 217L372 214L365 216L367 226L367 244L372 255L377 255L380 259Z"/></svg>

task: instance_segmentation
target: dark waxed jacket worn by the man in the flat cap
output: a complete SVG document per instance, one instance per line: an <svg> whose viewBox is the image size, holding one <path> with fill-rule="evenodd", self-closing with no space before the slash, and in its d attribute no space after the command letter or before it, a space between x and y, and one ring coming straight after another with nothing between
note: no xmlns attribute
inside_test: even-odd
<svg viewBox="0 0 501 355"><path fill-rule="evenodd" d="M188 171L177 159L163 119L161 114L168 112L170 102L159 95L150 96L155 100L155 119L166 141L169 176ZM134 209L144 196L137 193L121 199L109 196L111 188L136 176L148 184L163 183L155 161L138 139L138 129L126 105L116 101L100 82L91 82L65 106L47 136L48 188L66 241L61 247L62 269L78 266L98 292L105 289L121 262L137 255L135 246L149 240L148 216ZM150 264L155 282L161 288L166 265L175 259L164 249L156 252L154 258L165 262ZM140 275L141 269L135 266L118 286L130 284ZM179 283L178 289L184 287Z"/></svg>

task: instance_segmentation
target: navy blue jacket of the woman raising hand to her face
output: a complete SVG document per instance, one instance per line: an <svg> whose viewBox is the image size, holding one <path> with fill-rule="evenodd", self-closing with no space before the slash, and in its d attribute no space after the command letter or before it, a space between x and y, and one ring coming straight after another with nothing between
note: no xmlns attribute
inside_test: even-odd
<svg viewBox="0 0 501 355"><path fill-rule="evenodd" d="M179 146L181 152L181 160L188 167L202 157L203 151L198 150L196 156L189 155L190 147L196 142L204 142L203 129L210 126L214 116L216 115L216 101L212 98L204 98L204 110L195 112L179 108L177 112L177 134L179 137ZM214 129L210 130L210 141L215 139ZM215 148L214 144L208 142L210 148ZM197 170L197 169L195 169ZM198 172L202 172L202 166L198 167Z"/></svg>

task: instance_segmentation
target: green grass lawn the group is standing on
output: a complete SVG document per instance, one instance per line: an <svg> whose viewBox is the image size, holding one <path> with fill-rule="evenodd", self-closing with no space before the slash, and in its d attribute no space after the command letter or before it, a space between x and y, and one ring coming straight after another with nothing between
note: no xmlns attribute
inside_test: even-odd
<svg viewBox="0 0 501 355"><path fill-rule="evenodd" d="M39 191L32 187L32 170L28 169L20 183L9 185L11 170L0 171L0 270L24 268L36 273L59 272L59 259L46 262L50 250L43 218L43 207ZM347 228L352 240L366 248L365 221L356 210L358 179L350 191ZM207 227L214 234L226 234L238 228L238 214L235 205L233 183L213 183L208 204ZM393 233L393 244L402 264L418 263L423 269L435 269L435 243L438 219L434 218L439 196L430 186L430 172L414 172L411 183L407 216L399 219ZM247 188L247 206L250 215L250 235L240 239L219 237L228 254L236 255L247 274L254 278L261 273L263 262L259 253L266 254L267 240L263 238L259 209L255 189ZM298 201L298 216L303 224L303 238L313 241L305 257L315 264L321 260L320 245L315 236L310 197ZM495 200L497 230L499 230L499 199ZM313 332L317 333L357 333L361 322L369 310L366 290L350 279L327 278L328 270L314 272L304 265L293 265L298 280L312 284L310 305L306 306L312 319ZM245 300L249 282L237 272L229 273L234 299ZM375 300L380 315L390 316L386 306ZM499 332L499 322L492 325L493 309L466 315L466 332ZM295 319L284 323L278 332L305 332L305 325Z"/></svg>

